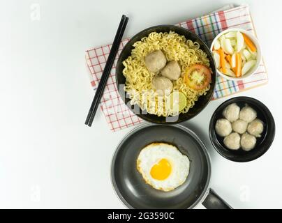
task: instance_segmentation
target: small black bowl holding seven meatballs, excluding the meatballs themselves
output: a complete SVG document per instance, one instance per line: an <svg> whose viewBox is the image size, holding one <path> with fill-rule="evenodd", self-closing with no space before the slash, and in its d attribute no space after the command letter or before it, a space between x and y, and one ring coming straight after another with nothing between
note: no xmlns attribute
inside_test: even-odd
<svg viewBox="0 0 282 223"><path fill-rule="evenodd" d="M264 130L261 137L257 138L255 148L251 151L244 151L242 148L239 148L237 151L233 151L226 148L223 144L223 137L216 134L214 129L218 118L223 118L223 109L232 103L236 103L240 108L248 104L250 107L255 109L258 114L258 118L260 118L260 120L264 123ZM269 112L269 109L262 104L262 102L254 98L237 97L223 102L211 116L211 121L209 122L209 138L211 139L211 144L213 144L219 154L228 160L235 162L248 162L263 155L272 145L274 135L275 123L272 114Z"/></svg>

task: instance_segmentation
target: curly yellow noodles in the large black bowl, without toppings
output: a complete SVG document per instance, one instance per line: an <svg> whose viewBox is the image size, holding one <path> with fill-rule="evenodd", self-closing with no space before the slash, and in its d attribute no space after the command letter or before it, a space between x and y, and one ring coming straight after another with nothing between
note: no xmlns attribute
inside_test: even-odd
<svg viewBox="0 0 282 223"><path fill-rule="evenodd" d="M156 73L147 70L144 57L154 50L161 49L168 61L177 61L181 67L181 77L173 81L173 90L181 91L186 95L186 107L179 113L188 112L200 95L205 95L210 86L202 91L195 91L189 88L183 80L185 68L194 64L202 64L209 67L207 54L200 49L200 45L192 40L186 40L184 36L170 31L170 33L150 33L149 36L142 38L141 41L134 43L135 47L131 56L123 61L124 76L126 85L124 90L131 98L131 105L139 105L142 110L147 110L149 114L158 116L175 116L178 113L173 112L166 103L168 95L159 96L152 90L151 80Z"/></svg>

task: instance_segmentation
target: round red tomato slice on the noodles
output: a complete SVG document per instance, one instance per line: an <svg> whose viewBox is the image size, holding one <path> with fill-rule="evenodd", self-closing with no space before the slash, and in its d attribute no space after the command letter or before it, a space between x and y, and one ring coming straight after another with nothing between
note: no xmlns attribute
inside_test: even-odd
<svg viewBox="0 0 282 223"><path fill-rule="evenodd" d="M204 65L195 64L188 67L184 75L184 83L191 89L200 91L205 89L211 82L211 71Z"/></svg>

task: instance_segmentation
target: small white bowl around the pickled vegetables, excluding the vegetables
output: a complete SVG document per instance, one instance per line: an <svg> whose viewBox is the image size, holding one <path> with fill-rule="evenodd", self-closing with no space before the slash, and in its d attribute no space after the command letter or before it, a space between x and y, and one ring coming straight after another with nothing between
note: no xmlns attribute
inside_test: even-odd
<svg viewBox="0 0 282 223"><path fill-rule="evenodd" d="M230 31L240 31L241 33L246 34L246 36L248 36L248 38L250 38L253 41L253 44L255 45L255 47L257 48L257 62L255 63L255 66L253 66L253 68L251 68L251 70L249 70L246 75L242 76L242 77L230 77L228 75L223 74L223 72L221 72L220 70L216 69L218 74L221 75L221 77L224 77L225 79L230 79L233 81L239 81L239 80L243 80L246 79L248 77L251 77L251 75L253 75L257 70L258 67L260 66L260 61L262 59L262 54L261 54L261 50L260 50L260 45L258 44L258 40L257 38L255 38L255 36L253 36L253 33L246 31L244 29L238 29L238 28L234 28L234 29L226 29L225 31L222 31L221 33L219 33L216 38L214 38L214 40L211 43L211 52L212 49L214 48L214 42L223 34L228 33Z"/></svg>

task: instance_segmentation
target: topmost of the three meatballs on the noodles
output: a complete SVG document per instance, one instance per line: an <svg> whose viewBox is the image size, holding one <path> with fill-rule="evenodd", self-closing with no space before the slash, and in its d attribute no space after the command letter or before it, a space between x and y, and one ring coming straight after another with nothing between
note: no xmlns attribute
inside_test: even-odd
<svg viewBox="0 0 282 223"><path fill-rule="evenodd" d="M165 54L161 50L153 51L145 56L145 65L150 72L159 72L165 64Z"/></svg>

